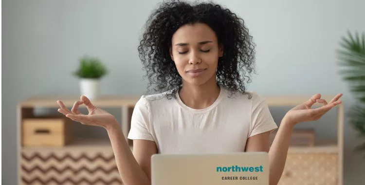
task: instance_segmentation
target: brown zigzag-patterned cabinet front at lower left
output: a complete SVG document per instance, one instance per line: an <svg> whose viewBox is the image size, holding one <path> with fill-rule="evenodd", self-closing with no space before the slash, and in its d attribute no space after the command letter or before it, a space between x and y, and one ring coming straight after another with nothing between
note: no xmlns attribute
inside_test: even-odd
<svg viewBox="0 0 365 185"><path fill-rule="evenodd" d="M112 152L21 153L23 185L122 185Z"/></svg>

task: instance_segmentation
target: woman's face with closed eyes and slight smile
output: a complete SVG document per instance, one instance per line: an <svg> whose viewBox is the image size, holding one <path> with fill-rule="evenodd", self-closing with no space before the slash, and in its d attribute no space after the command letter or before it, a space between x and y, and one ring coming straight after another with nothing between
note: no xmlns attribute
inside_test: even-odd
<svg viewBox="0 0 365 185"><path fill-rule="evenodd" d="M183 82L194 85L209 80L216 82L218 58L223 56L223 47L207 24L183 25L174 33L171 42L170 55Z"/></svg>

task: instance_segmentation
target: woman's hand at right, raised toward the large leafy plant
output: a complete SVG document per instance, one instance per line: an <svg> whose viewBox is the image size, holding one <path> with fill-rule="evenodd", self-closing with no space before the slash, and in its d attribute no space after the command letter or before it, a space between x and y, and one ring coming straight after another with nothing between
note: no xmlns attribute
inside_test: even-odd
<svg viewBox="0 0 365 185"><path fill-rule="evenodd" d="M327 103L325 99L320 99L321 94L315 94L307 102L302 103L288 111L283 119L286 119L289 121L289 123L293 124L292 126L300 122L318 120L323 114L328 112L334 106L342 103L342 101L339 100L341 96L342 93L337 94L329 103ZM310 107L316 102L323 103L324 106L317 109L310 109Z"/></svg>

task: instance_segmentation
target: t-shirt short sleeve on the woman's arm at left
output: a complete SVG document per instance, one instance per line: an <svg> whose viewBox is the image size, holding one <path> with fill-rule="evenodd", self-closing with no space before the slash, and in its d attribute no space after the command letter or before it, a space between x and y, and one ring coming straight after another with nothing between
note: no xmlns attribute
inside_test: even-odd
<svg viewBox="0 0 365 185"><path fill-rule="evenodd" d="M154 141L149 126L148 106L146 98L143 95L134 106L127 138Z"/></svg>

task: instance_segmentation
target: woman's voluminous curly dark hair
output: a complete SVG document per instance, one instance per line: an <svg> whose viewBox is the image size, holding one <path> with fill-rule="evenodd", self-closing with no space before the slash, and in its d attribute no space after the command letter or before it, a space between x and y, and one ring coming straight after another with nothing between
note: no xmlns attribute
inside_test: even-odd
<svg viewBox="0 0 365 185"><path fill-rule="evenodd" d="M168 99L176 98L182 85L182 77L171 59L169 48L173 34L184 24L205 23L212 28L222 43L224 54L219 57L217 84L226 87L231 94L245 94L244 80L255 72L255 44L243 19L229 9L207 3L189 4L180 0L163 1L148 17L145 31L138 46L149 83L155 84L156 92L167 91ZM244 70L246 68L246 70ZM250 94L249 94L250 96ZM250 97L249 97L250 98Z"/></svg>

